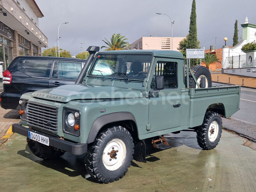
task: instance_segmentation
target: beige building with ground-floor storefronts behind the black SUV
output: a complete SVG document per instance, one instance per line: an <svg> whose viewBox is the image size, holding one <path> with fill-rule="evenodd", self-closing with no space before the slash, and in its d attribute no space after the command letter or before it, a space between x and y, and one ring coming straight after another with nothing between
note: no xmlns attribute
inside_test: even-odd
<svg viewBox="0 0 256 192"><path fill-rule="evenodd" d="M38 26L44 17L35 0L0 0L0 65L21 55L41 55L48 38Z"/></svg>

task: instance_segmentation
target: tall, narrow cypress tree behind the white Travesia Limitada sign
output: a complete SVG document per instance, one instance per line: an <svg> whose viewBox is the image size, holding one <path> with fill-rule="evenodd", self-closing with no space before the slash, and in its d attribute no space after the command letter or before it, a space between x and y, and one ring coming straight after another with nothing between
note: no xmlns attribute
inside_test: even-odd
<svg viewBox="0 0 256 192"><path fill-rule="evenodd" d="M188 48L189 49L198 49L198 40L197 40L197 28L196 28L196 0L192 2L192 10L190 15L190 24L189 24L189 34L188 34ZM197 59L190 60L191 67L198 64Z"/></svg>

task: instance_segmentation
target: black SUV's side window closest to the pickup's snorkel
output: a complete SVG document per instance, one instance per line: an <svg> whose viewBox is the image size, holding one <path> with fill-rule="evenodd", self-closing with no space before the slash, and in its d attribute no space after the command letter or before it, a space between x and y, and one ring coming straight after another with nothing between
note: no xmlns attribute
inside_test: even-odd
<svg viewBox="0 0 256 192"><path fill-rule="evenodd" d="M81 62L54 61L52 78L76 80L81 70Z"/></svg>

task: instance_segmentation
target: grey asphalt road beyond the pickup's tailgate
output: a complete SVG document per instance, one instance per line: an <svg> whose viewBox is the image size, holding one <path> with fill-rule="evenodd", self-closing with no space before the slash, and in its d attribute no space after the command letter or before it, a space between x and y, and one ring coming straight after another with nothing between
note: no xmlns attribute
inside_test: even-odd
<svg viewBox="0 0 256 192"><path fill-rule="evenodd" d="M232 119L222 118L222 126L256 142L256 90L241 88L240 110Z"/></svg>

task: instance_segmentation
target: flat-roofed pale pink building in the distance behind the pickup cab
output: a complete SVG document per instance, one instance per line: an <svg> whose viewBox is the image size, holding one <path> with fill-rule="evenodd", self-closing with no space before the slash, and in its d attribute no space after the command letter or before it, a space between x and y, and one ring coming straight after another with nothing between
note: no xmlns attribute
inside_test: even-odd
<svg viewBox="0 0 256 192"><path fill-rule="evenodd" d="M172 50L178 51L179 43L186 37L141 37L132 43L132 49L154 49L154 50Z"/></svg>

